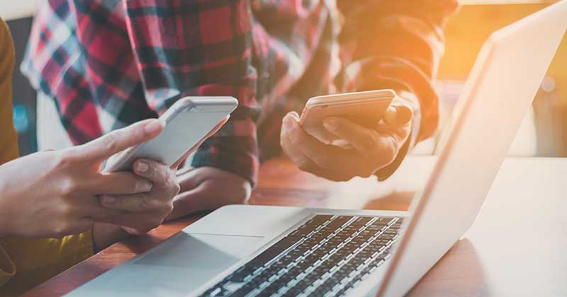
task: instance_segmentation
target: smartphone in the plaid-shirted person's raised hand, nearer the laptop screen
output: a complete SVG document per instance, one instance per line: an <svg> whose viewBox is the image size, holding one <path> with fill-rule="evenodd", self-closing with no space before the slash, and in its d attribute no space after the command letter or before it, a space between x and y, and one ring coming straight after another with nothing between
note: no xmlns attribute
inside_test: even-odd
<svg viewBox="0 0 567 297"><path fill-rule="evenodd" d="M395 95L386 89L313 97L305 104L299 124L320 141L333 144L339 139L323 127L325 118L344 117L364 127L376 127Z"/></svg>

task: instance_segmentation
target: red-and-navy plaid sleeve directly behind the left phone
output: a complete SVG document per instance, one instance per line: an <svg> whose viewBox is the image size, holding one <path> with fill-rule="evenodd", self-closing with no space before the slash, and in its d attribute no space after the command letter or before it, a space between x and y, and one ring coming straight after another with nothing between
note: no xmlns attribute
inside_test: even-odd
<svg viewBox="0 0 567 297"><path fill-rule="evenodd" d="M229 95L239 106L196 152L212 166L256 182L256 69L249 1L124 0L128 36L148 105L159 114L184 96Z"/></svg>

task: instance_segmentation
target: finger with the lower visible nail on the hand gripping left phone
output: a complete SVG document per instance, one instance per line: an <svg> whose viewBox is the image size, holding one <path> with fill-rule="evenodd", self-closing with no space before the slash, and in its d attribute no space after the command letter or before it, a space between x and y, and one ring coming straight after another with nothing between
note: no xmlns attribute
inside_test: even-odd
<svg viewBox="0 0 567 297"><path fill-rule="evenodd" d="M167 209L171 206L169 202L165 202L164 199L158 199L151 194L103 195L99 198L99 201L107 209L131 211L134 213Z"/></svg>

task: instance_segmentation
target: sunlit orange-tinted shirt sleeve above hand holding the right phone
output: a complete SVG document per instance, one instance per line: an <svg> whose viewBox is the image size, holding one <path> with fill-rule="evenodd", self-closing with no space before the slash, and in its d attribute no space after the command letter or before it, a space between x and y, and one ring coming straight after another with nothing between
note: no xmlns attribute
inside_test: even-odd
<svg viewBox="0 0 567 297"><path fill-rule="evenodd" d="M443 28L459 8L456 0L339 0L344 16L340 35L346 66L344 84L359 91L392 88L414 112L408 142L391 165L378 170L384 180L417 142L432 136L439 121L433 86L444 52Z"/></svg>

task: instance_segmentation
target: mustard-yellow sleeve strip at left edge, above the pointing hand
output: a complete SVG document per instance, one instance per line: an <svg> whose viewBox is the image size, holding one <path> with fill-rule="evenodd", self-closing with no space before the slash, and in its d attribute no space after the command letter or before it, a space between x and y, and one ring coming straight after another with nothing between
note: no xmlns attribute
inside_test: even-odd
<svg viewBox="0 0 567 297"><path fill-rule="evenodd" d="M12 123L13 42L0 20L0 165L18 158L18 134Z"/></svg>

